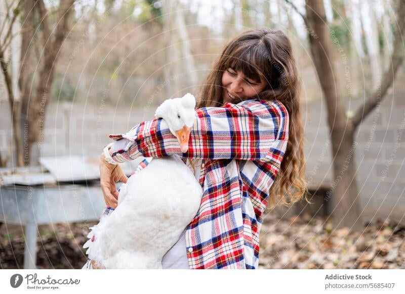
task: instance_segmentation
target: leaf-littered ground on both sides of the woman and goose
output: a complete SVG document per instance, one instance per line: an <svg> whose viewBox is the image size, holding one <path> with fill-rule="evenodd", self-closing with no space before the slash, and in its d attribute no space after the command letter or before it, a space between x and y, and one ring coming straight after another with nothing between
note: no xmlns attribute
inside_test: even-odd
<svg viewBox="0 0 405 294"><path fill-rule="evenodd" d="M64 223L38 227L37 268L79 269L87 261L83 244L92 223ZM405 268L405 228L384 222L362 231L333 230L322 217L293 216L264 219L260 234L259 268L357 269ZM0 227L0 267L22 269L23 228Z"/></svg>

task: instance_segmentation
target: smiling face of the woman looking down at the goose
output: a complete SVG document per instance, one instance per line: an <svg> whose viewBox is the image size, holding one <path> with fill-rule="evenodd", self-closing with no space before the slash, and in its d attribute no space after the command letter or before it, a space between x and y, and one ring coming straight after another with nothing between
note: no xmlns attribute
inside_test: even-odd
<svg viewBox="0 0 405 294"><path fill-rule="evenodd" d="M241 71L228 68L222 74L222 86L224 88L223 103L236 104L259 94L264 90L266 82L255 82Z"/></svg>

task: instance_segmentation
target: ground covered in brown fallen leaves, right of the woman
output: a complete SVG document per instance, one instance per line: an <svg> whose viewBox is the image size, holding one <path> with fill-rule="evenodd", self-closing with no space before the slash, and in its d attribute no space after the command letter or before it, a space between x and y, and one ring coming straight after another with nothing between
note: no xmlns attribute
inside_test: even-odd
<svg viewBox="0 0 405 294"><path fill-rule="evenodd" d="M349 232L308 214L282 221L267 217L260 234L259 268L403 269L405 228L385 220Z"/></svg>

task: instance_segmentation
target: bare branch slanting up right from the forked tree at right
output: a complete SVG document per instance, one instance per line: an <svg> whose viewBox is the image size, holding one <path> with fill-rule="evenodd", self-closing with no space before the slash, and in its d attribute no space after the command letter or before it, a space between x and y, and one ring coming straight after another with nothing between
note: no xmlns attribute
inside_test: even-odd
<svg viewBox="0 0 405 294"><path fill-rule="evenodd" d="M405 31L405 1L399 1L399 8L397 12L398 27L395 32L394 39L394 51L391 58L390 66L384 73L381 86L375 90L371 95L370 99L367 100L359 109L356 111L351 122L354 128L356 128L363 119L365 119L377 106L377 104L384 99L387 90L391 86L395 74L402 63L403 60L403 36Z"/></svg>

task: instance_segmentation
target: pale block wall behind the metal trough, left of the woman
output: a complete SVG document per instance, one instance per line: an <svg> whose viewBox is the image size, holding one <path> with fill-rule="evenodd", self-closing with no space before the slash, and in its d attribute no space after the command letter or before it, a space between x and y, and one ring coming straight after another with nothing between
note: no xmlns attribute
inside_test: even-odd
<svg viewBox="0 0 405 294"><path fill-rule="evenodd" d="M51 104L45 117L44 141L36 156L100 154L111 142L108 134L130 130L144 120L153 119L154 108L120 108L71 104ZM0 105L0 151L11 143L11 117L7 102ZM11 161L9 162L11 165Z"/></svg>

